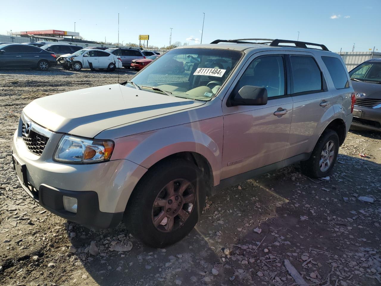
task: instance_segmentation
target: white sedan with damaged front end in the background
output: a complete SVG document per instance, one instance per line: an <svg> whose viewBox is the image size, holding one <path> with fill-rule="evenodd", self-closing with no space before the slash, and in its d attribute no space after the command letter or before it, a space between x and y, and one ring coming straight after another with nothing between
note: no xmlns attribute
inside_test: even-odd
<svg viewBox="0 0 381 286"><path fill-rule="evenodd" d="M74 54L62 55L57 59L64 69L80 71L83 67L91 70L107 69L114 71L122 67L122 60L108 51L98 49L82 49Z"/></svg>

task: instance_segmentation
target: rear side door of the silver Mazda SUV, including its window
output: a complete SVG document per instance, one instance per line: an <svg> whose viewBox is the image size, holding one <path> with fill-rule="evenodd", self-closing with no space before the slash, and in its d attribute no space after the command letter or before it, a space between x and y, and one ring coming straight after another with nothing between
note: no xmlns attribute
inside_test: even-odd
<svg viewBox="0 0 381 286"><path fill-rule="evenodd" d="M310 153L326 120L335 114L332 93L328 91L326 76L320 68L322 60L312 53L290 52L287 63L293 115L285 158Z"/></svg>

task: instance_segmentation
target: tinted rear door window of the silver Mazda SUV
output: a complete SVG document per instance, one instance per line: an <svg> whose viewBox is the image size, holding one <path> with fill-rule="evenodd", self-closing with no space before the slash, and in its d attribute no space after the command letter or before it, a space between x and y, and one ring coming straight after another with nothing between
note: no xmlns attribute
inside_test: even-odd
<svg viewBox="0 0 381 286"><path fill-rule="evenodd" d="M310 56L290 56L293 93L322 90L322 74Z"/></svg>

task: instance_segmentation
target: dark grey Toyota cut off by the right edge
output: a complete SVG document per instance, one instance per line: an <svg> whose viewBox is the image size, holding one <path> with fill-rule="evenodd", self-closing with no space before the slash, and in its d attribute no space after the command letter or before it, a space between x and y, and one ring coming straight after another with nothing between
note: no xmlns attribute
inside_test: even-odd
<svg viewBox="0 0 381 286"><path fill-rule="evenodd" d="M356 93L352 126L381 132L381 59L370 59L349 72Z"/></svg>

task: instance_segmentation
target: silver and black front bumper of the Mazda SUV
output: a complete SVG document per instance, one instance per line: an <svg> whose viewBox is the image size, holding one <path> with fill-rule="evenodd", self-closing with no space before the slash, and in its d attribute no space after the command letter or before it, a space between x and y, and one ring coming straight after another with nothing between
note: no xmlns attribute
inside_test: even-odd
<svg viewBox="0 0 381 286"><path fill-rule="evenodd" d="M41 156L38 156L27 149L21 129L20 119L12 153L13 159L24 166L24 172L18 175L18 179L29 196L54 214L86 227L118 225L128 198L146 168L124 159L96 164L55 162L53 154L62 133L52 132ZM77 198L76 214L64 209L64 195Z"/></svg>

